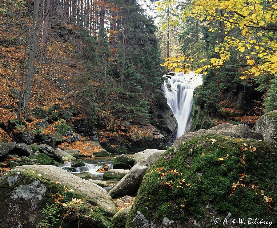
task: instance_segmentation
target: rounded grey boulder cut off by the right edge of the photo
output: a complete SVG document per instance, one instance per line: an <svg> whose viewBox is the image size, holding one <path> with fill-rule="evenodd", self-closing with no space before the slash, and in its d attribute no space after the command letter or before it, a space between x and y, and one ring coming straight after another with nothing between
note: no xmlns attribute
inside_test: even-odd
<svg viewBox="0 0 277 228"><path fill-rule="evenodd" d="M265 140L277 141L277 110L261 116L255 125L255 131L261 133Z"/></svg>

